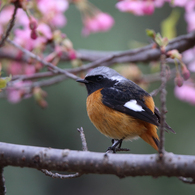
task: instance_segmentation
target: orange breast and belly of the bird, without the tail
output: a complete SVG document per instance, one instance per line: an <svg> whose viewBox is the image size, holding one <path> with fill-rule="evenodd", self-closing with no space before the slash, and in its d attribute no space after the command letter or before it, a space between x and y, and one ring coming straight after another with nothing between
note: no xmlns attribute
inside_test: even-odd
<svg viewBox="0 0 195 195"><path fill-rule="evenodd" d="M140 120L105 106L99 90L87 98L87 112L95 127L113 139L135 139L147 130Z"/></svg>

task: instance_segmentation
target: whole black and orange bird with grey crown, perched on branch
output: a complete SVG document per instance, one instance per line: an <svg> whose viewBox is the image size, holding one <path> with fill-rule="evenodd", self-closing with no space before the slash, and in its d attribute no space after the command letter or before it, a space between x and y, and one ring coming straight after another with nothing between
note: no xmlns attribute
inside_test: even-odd
<svg viewBox="0 0 195 195"><path fill-rule="evenodd" d="M95 127L112 138L109 150L120 150L123 140L141 137L158 150L160 114L153 98L115 70L100 66L91 70L84 83L88 91L87 113ZM175 133L166 124L166 129Z"/></svg>

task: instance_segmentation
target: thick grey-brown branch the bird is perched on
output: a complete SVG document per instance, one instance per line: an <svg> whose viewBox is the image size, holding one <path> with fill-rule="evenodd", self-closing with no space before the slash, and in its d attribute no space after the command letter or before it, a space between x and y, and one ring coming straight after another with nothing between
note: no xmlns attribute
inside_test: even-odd
<svg viewBox="0 0 195 195"><path fill-rule="evenodd" d="M157 154L107 154L72 151L0 143L0 166L20 166L56 171L113 174L126 176L195 175L195 156L165 153L162 161Z"/></svg>

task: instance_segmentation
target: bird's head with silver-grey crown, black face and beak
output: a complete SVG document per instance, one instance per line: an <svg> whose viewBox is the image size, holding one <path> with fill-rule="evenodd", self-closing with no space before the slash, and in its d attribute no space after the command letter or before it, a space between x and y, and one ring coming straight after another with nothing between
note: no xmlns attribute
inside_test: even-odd
<svg viewBox="0 0 195 195"><path fill-rule="evenodd" d="M77 82L84 83L87 87L88 95L90 95L98 89L112 87L121 80L125 80L125 78L115 70L100 66L90 71L85 76L85 79L78 79Z"/></svg>

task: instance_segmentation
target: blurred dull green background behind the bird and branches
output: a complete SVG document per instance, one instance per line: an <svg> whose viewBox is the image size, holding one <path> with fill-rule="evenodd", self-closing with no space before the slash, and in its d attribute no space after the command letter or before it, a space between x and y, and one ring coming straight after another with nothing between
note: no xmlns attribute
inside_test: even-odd
<svg viewBox="0 0 195 195"><path fill-rule="evenodd" d="M66 17L68 24L63 29L75 49L91 49L100 51L119 51L132 48L133 42L150 42L145 29L160 32L161 21L167 18L172 8L165 4L156 9L151 16L136 17L121 13L115 8L116 2L91 0L102 11L108 12L115 19L114 27L106 33L81 35L81 16L75 6L70 6ZM180 18L177 25L177 35L186 33L186 23L183 19L183 9L177 8ZM61 67L67 65L61 63ZM138 64L140 69L150 72L147 64ZM153 83L147 89L151 92L160 83ZM167 90L167 122L177 134L166 133L165 148L176 154L195 155L194 151L194 114L193 106L179 101L174 96L174 82L168 82ZM77 128L83 127L90 151L105 152L111 142L101 135L92 125L86 113L87 92L84 86L72 80L47 87L48 108L41 109L33 98L11 104L0 100L1 142L14 144L43 146L52 148L68 148L81 150L81 140ZM155 97L159 106L159 97ZM143 140L124 142L124 147L130 148L133 154L151 154L156 151ZM132 194L132 195L171 195L194 194L195 186L180 182L177 178L127 177L119 179L112 175L84 175L76 179L52 179L40 171L28 168L6 167L4 169L8 195L41 194Z"/></svg>

